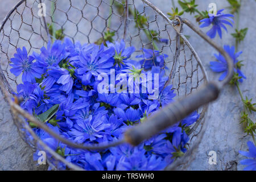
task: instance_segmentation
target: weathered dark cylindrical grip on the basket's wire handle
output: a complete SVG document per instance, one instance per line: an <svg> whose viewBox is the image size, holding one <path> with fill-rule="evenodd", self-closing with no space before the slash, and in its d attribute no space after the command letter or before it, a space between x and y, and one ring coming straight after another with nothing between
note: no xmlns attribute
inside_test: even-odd
<svg viewBox="0 0 256 182"><path fill-rule="evenodd" d="M137 146L160 131L167 129L191 114L204 104L216 100L220 90L215 82L210 82L181 100L175 101L156 112L141 125L137 125L125 133L126 142Z"/></svg>

